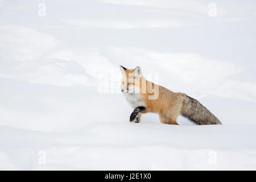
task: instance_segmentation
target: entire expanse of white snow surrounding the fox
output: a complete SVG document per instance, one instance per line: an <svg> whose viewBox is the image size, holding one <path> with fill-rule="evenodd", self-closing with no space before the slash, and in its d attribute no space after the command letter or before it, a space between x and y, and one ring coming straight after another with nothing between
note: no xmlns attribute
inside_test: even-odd
<svg viewBox="0 0 256 182"><path fill-rule="evenodd" d="M0 2L0 169L256 169L254 2L38 3ZM119 65L223 125L129 122Z"/></svg>

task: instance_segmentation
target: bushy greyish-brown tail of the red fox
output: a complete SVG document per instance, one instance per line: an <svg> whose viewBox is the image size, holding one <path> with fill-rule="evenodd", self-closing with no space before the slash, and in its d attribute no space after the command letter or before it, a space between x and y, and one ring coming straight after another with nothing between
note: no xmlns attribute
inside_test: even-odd
<svg viewBox="0 0 256 182"><path fill-rule="evenodd" d="M197 125L221 125L221 122L199 101L192 97L185 97L181 115Z"/></svg>

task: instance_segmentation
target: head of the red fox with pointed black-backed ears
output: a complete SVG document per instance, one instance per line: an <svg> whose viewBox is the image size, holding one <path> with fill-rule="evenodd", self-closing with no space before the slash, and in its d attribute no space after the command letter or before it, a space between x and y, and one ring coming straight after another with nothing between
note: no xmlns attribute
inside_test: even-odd
<svg viewBox="0 0 256 182"><path fill-rule="evenodd" d="M141 68L127 69L120 66L122 73L121 92L122 93L139 93Z"/></svg>

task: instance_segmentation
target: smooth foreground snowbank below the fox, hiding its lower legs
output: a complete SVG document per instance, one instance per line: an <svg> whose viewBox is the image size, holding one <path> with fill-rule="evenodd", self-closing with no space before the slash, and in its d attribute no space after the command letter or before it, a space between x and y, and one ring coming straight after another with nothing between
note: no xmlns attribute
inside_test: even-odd
<svg viewBox="0 0 256 182"><path fill-rule="evenodd" d="M255 169L255 125L94 122L70 133L0 127L1 169ZM46 165L37 163L46 152ZM210 162L216 155L214 162ZM22 156L22 158L20 158ZM215 157L215 156L214 156Z"/></svg>

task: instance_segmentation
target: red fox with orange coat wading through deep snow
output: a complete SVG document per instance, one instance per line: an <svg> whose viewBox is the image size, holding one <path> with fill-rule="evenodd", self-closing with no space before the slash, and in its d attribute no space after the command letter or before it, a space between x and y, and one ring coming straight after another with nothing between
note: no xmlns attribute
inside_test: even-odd
<svg viewBox="0 0 256 182"><path fill-rule="evenodd" d="M197 125L221 125L221 122L195 98L184 93L175 93L163 86L147 81L141 68L127 69L122 72L121 92L134 108L130 122L141 121L141 113L158 113L160 122L178 125L177 117L183 115ZM156 94L157 93L157 94ZM154 95L156 94L156 97Z"/></svg>

